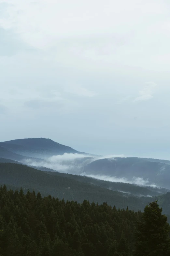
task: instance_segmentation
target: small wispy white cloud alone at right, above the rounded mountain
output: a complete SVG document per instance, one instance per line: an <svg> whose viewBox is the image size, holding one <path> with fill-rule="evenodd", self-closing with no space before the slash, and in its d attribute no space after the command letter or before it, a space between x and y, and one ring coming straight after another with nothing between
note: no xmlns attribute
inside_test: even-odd
<svg viewBox="0 0 170 256"><path fill-rule="evenodd" d="M143 90L139 92L140 96L134 99L135 101L146 101L153 98L154 89L157 87L157 84L154 82L146 82Z"/></svg>

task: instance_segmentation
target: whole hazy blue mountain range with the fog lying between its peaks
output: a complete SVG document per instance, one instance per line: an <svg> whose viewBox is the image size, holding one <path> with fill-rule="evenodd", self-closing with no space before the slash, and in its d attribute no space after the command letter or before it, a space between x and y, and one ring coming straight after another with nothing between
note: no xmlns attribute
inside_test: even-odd
<svg viewBox="0 0 170 256"><path fill-rule="evenodd" d="M64 153L68 154L64 155ZM127 183L156 184L170 189L170 161L168 160L137 157L99 159L97 156L86 153L83 153L83 156L81 153L45 138L17 139L0 143L1 158L36 166L37 169L45 171L54 169L99 179L107 179L107 176L116 177ZM62 156L49 158L54 155Z"/></svg>

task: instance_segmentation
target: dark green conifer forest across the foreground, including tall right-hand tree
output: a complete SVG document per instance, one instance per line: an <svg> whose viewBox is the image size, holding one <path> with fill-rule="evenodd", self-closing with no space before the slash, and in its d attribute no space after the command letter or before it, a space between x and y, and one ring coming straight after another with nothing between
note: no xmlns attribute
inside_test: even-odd
<svg viewBox="0 0 170 256"><path fill-rule="evenodd" d="M42 198L34 191L24 195L22 188L14 192L4 185L0 187L0 255L169 255L169 224L161 212L156 202L141 213L112 208L106 202L79 204Z"/></svg>

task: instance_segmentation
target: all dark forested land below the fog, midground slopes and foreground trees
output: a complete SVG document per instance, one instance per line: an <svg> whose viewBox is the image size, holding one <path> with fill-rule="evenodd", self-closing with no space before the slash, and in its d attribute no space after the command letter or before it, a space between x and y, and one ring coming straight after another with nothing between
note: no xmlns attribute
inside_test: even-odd
<svg viewBox="0 0 170 256"><path fill-rule="evenodd" d="M106 187L124 186L140 193L156 189L7 162L0 163L0 184L1 256L170 255L167 217L156 202L151 203L158 199L168 216L170 192L131 196Z"/></svg>

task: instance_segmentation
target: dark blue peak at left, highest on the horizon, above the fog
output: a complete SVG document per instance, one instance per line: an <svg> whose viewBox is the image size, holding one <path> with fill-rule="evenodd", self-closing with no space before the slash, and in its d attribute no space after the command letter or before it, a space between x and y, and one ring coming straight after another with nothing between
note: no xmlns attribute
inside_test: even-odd
<svg viewBox="0 0 170 256"><path fill-rule="evenodd" d="M31 138L0 143L7 150L28 157L45 158L64 153L80 153L77 150L45 138Z"/></svg>

